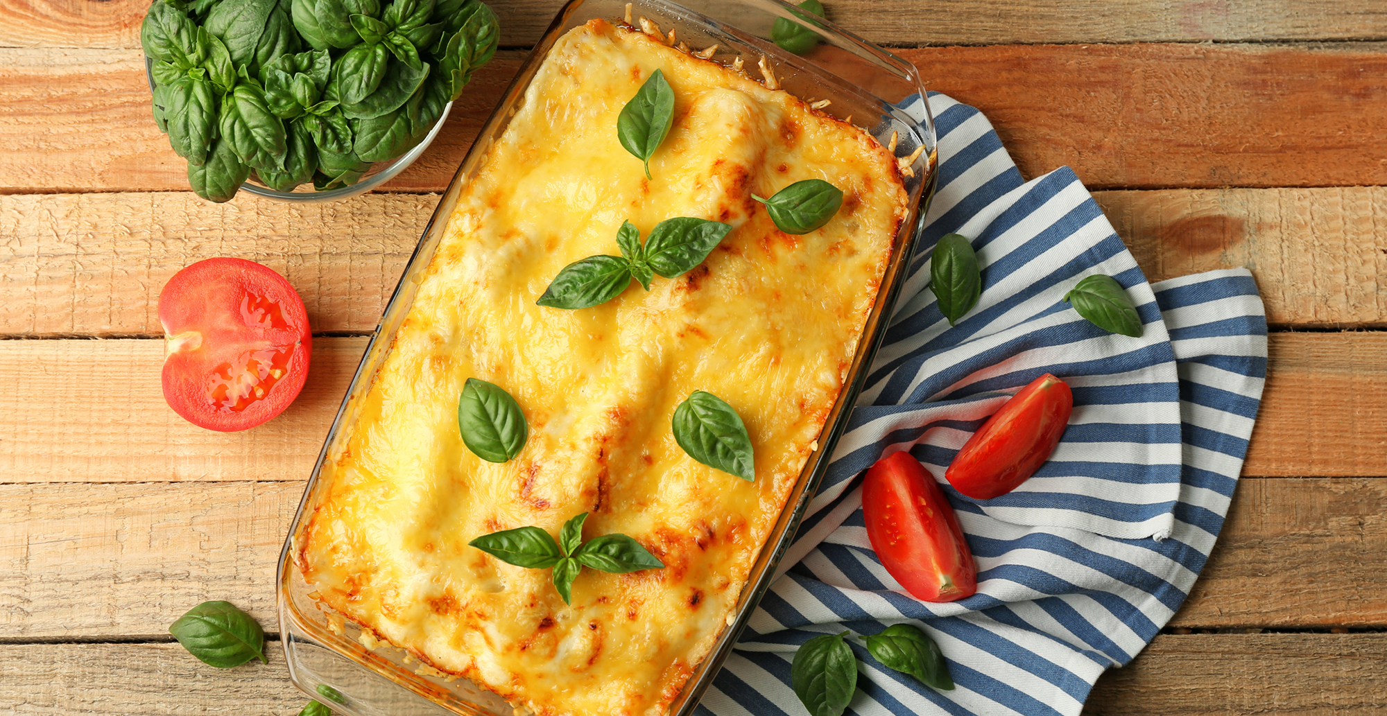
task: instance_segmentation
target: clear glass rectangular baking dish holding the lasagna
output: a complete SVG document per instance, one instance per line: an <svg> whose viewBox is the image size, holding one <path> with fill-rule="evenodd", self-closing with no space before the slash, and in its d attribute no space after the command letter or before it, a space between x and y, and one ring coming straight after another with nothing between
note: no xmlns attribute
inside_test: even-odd
<svg viewBox="0 0 1387 716"><path fill-rule="evenodd" d="M834 445L846 429L872 355L885 334L935 183L935 130L928 105L924 108L922 119L915 119L904 111L904 107L922 101L925 96L914 65L828 21L795 14L791 6L777 0L710 0L699 3L699 11L666 0L645 0L634 7L621 0L573 0L566 4L516 74L501 104L487 119L424 228L413 257L356 368L347 397L337 411L280 552L279 623L290 679L298 688L340 713L510 716L524 712L513 709L501 697L467 679L441 673L402 649L377 642L370 633L363 634L354 622L319 606L312 597L312 586L305 583L291 555L295 552L305 516L313 512L316 501L325 493L326 480L319 479L322 468L345 443L348 427L356 418L358 398L370 387L370 380L384 359L395 330L409 311L417 283L429 268L458 196L523 101L526 87L545 54L571 28L594 18L623 22L626 17L630 17L635 26L642 26L641 21L645 18L656 24L660 32L673 29L675 42L687 43L694 50L717 44L713 61L739 67L752 78L760 76L759 65L764 57L782 89L804 100L831 100L822 111L861 126L884 146L895 142L895 155L906 175L906 190L910 197L906 221L895 237L892 257L859 339L847 380L820 434L820 447L804 465L779 519L761 547L727 627L671 702L671 715L694 713L699 698L713 683L718 667L736 642L736 636L770 586L775 566L793 540L804 508L828 468ZM798 56L782 50L768 39L773 37L777 22L781 22L781 29L786 28L785 22L798 22L803 28L800 32L817 36L817 43L807 50L804 46L798 47L803 51ZM645 28L653 31L651 25ZM920 111L918 105L914 111Z"/></svg>

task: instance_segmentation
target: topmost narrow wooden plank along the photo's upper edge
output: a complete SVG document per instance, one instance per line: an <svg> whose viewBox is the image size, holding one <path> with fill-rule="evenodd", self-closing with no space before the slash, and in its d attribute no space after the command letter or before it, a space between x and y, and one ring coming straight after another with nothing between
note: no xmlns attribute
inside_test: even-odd
<svg viewBox="0 0 1387 716"><path fill-rule="evenodd" d="M491 3L501 44L534 44L562 0ZM147 0L10 0L0 46L139 47ZM1387 39L1387 15L1351 0L1150 3L1076 0L832 0L828 17L871 42L903 44Z"/></svg>

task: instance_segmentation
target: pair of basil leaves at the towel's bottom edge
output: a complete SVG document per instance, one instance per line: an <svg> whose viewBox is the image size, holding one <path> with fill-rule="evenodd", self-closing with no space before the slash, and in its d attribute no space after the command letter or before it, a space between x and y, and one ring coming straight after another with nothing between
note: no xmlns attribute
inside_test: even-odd
<svg viewBox="0 0 1387 716"><path fill-rule="evenodd" d="M845 636L847 631L814 637L795 652L791 684L811 716L839 716L857 688L857 658ZM882 666L914 676L939 691L954 687L939 645L920 627L892 624L863 641Z"/></svg>

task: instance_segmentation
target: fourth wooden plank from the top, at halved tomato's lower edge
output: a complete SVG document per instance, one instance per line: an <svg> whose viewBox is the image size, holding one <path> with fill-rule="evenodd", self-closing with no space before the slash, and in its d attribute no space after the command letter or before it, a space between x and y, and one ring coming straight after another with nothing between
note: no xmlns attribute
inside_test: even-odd
<svg viewBox="0 0 1387 716"><path fill-rule="evenodd" d="M0 341L0 483L307 477L365 344L316 339L294 405L252 430L212 433L165 405L160 340ZM1272 334L1244 473L1383 475L1384 372L1387 333Z"/></svg>

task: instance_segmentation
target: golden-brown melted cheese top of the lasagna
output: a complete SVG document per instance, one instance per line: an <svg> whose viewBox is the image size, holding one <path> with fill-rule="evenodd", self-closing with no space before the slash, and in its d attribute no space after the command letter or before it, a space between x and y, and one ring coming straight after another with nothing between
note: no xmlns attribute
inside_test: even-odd
<svg viewBox="0 0 1387 716"><path fill-rule="evenodd" d="M617 114L656 69L674 126L651 160ZM843 190L822 229L777 230L752 193ZM325 497L298 536L320 599L429 665L541 716L663 715L725 627L836 400L906 212L893 157L741 72L602 21L551 50L463 189ZM535 305L559 271L671 216L734 226L696 269L578 311ZM530 438L495 465L458 433L469 377L509 391ZM670 429L706 390L742 416L756 480L703 466ZM548 569L467 541L591 512L666 569Z"/></svg>

